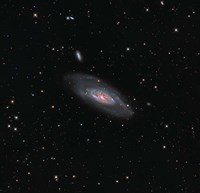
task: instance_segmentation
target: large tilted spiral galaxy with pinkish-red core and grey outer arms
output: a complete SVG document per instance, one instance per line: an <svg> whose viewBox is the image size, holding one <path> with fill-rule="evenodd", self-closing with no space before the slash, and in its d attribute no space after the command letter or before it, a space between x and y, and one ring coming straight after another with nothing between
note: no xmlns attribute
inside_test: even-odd
<svg viewBox="0 0 200 193"><path fill-rule="evenodd" d="M107 83L91 75L75 73L64 77L64 84L90 106L119 118L134 113L124 97Z"/></svg>

